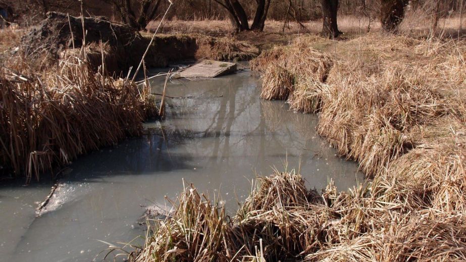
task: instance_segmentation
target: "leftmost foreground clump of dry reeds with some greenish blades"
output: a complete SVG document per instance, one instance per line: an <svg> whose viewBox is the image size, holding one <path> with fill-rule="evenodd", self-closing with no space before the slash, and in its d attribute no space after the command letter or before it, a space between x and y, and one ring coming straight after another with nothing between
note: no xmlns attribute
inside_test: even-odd
<svg viewBox="0 0 466 262"><path fill-rule="evenodd" d="M231 243L231 225L225 208L212 203L194 186L185 187L165 221L148 221L151 236L133 261L226 260L221 252Z"/></svg>

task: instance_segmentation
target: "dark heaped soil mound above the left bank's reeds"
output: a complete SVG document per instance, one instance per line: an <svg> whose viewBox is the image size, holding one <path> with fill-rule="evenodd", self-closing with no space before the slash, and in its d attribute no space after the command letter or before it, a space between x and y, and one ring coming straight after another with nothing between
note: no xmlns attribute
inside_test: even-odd
<svg viewBox="0 0 466 262"><path fill-rule="evenodd" d="M101 49L102 42L106 56L117 58L118 68L125 69L135 63L132 61L134 58L140 57L142 36L134 29L112 23L105 17L81 18L49 12L47 18L21 41L24 53L41 61L44 58L57 60L66 49L80 48L84 42L97 50Z"/></svg>

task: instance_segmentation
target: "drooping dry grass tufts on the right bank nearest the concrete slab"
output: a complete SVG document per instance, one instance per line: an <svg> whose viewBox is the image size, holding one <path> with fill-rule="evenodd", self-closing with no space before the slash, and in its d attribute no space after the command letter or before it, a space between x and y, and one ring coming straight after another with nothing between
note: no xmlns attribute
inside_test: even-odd
<svg viewBox="0 0 466 262"><path fill-rule="evenodd" d="M297 89L308 97L291 97L293 110L315 112L320 107L320 92L333 65L333 59L297 40L291 46L274 47L251 62L251 68L263 73L261 97L286 100ZM310 82L316 85L310 84ZM309 93L313 92L313 93ZM322 91L322 90L321 90Z"/></svg>

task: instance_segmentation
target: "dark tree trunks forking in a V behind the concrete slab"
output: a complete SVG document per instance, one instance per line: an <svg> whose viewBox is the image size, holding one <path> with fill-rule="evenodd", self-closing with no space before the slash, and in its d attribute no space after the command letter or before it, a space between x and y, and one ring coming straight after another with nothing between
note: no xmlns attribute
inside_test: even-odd
<svg viewBox="0 0 466 262"><path fill-rule="evenodd" d="M251 27L249 27L248 16L246 14L246 11L244 11L243 6L241 5L241 3L239 3L238 0L214 1L228 11L233 23L235 24L237 31L264 30L271 0L255 0L257 6L255 9L254 20L252 22Z"/></svg>

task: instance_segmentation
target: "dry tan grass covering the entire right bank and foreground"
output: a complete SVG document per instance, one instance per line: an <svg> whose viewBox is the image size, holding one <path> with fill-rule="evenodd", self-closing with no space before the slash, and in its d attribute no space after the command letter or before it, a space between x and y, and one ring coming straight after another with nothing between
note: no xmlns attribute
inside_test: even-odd
<svg viewBox="0 0 466 262"><path fill-rule="evenodd" d="M319 133L372 180L340 193L330 181L318 194L300 176L275 172L231 220L216 200L185 188L132 258L464 260L464 46L368 34L305 36L265 52L252 62L263 97L319 112Z"/></svg>

